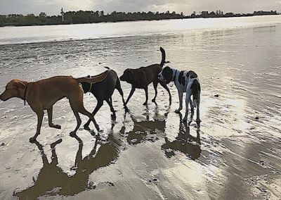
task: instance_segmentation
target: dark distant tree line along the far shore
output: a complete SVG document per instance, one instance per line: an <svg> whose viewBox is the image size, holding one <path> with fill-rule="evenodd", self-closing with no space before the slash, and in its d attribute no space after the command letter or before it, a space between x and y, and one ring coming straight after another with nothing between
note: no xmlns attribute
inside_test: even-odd
<svg viewBox="0 0 281 200"><path fill-rule="evenodd" d="M124 13L114 11L105 14L103 11L68 11L64 13L64 21L61 15L48 16L46 13L41 12L39 15L0 15L0 27L13 25L61 25L61 24L77 24L77 23L101 23L101 22L121 22L121 21L136 21L136 20L166 20L166 19L183 19L183 18L221 18L221 17L240 17L240 16L253 16L253 15L276 15L276 11L255 11L249 14L234 14L223 13L223 11L216 11L209 13L202 11L199 15L195 12L192 15L183 15L183 12L176 13L166 11L164 13L153 12L135 12Z"/></svg>

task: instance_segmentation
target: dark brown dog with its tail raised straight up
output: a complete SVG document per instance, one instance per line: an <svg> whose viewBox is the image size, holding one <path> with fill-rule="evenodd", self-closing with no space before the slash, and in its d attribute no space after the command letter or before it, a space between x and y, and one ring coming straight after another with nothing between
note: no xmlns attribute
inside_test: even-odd
<svg viewBox="0 0 281 200"><path fill-rule="evenodd" d="M165 63L166 54L162 47L160 47L160 51L162 53L162 61L160 64L153 64L147 67L141 67L137 69L126 69L124 70L123 75L120 77L120 80L126 81L131 84L131 92L126 100L125 105L131 99L133 92L135 92L136 88L145 89L145 103L143 105L148 104L148 85L153 82L153 87L155 89L155 96L152 99L152 102L155 102L157 96L157 85L160 83L164 89L169 93L169 103L171 104L171 93L169 88L166 86L165 82L158 80L158 74L161 73L163 65Z"/></svg>

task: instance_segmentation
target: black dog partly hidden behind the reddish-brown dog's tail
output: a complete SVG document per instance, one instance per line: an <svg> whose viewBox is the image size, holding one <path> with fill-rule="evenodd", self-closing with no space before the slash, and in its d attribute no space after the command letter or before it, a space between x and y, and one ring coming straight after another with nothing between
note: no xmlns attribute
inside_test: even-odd
<svg viewBox="0 0 281 200"><path fill-rule="evenodd" d="M128 108L126 107L124 101L124 94L117 73L115 72L115 70L111 70L110 68L107 69L108 69L108 73L105 80L93 85L89 84L88 82L81 82L81 85L84 90L84 93L91 92L98 101L96 108L93 110L93 115L96 115L100 107L103 106L103 101L106 101L107 104L110 106L110 111L112 112L112 118L116 118L115 110L112 106L112 98L111 98L115 89L117 89L118 92L121 94L124 108L126 111L128 110ZM90 122L91 120L88 120L88 122L84 125L84 128L88 129Z"/></svg>

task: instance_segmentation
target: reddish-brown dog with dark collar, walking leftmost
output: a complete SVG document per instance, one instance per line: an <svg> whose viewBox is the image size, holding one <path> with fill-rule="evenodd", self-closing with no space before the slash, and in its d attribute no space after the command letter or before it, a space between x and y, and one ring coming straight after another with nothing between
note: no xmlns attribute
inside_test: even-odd
<svg viewBox="0 0 281 200"><path fill-rule="evenodd" d="M30 142L34 141L40 134L44 110L48 112L48 125L60 129L60 125L52 123L53 104L66 97L70 100L70 106L77 119L77 127L70 135L74 135L79 126L81 119L79 113L87 115L99 130L93 115L86 111L83 106L83 89L79 86L79 82L95 83L103 81L107 77L107 71L96 75L92 78L74 78L71 76L55 76L48 79L39 80L37 82L26 82L23 80L11 80L6 85L6 90L0 95L0 100L7 101L12 97L18 97L30 104L32 110L37 114L37 132L34 137L30 138Z"/></svg>

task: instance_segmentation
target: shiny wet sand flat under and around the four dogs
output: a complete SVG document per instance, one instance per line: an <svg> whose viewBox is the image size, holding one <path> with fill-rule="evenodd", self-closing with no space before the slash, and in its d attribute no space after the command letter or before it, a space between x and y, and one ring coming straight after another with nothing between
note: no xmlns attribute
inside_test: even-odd
<svg viewBox="0 0 281 200"><path fill-rule="evenodd" d="M158 86L136 90L128 107L115 92L116 120L107 104L103 130L70 137L76 120L67 99L47 115L37 142L37 117L20 99L0 101L0 199L280 199L281 25L173 35L13 44L0 48L0 91L13 78L96 75L108 66L159 63L195 70L202 85L201 127L181 123L178 94ZM149 44L149 45L148 45ZM122 82L125 98L130 85ZM215 95L218 94L218 97ZM92 111L96 99L86 94ZM184 111L181 112L184 115ZM82 123L87 118L81 116Z"/></svg>

